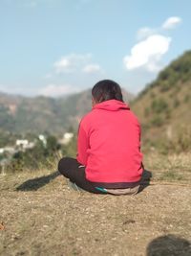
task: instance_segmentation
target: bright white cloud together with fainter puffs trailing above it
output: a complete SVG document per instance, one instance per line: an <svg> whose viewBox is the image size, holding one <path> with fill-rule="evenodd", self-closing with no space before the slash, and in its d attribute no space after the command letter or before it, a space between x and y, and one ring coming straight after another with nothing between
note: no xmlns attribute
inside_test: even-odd
<svg viewBox="0 0 191 256"><path fill-rule="evenodd" d="M175 29L180 22L180 17L172 16L158 28L140 28L137 33L139 42L131 49L131 54L123 59L126 68L133 70L144 67L150 72L158 72L162 68L160 60L168 52L172 41L171 37L162 34Z"/></svg>

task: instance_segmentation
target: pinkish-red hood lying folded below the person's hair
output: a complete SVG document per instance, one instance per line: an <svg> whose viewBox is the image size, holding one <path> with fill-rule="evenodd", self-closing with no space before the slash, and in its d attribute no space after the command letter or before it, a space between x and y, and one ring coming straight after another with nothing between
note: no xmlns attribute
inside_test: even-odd
<svg viewBox="0 0 191 256"><path fill-rule="evenodd" d="M130 109L130 107L128 105L126 105L125 103L122 103L120 101L117 100L109 100L109 101L105 101L102 102L100 104L96 104L93 109L104 109L104 110L108 110L108 111L117 111L119 109Z"/></svg>

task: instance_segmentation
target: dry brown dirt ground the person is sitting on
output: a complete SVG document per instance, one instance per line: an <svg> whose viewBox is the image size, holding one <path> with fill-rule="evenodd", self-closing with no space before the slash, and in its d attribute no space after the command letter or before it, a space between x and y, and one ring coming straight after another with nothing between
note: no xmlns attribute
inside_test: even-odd
<svg viewBox="0 0 191 256"><path fill-rule="evenodd" d="M0 255L190 256L185 181L118 197L73 191L56 173L0 175Z"/></svg>

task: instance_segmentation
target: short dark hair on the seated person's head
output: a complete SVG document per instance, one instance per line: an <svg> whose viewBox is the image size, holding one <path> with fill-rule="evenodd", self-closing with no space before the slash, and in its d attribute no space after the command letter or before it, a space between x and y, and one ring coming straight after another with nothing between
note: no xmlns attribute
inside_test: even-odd
<svg viewBox="0 0 191 256"><path fill-rule="evenodd" d="M109 100L123 102L120 86L116 81L111 80L96 82L92 89L92 96L96 103L102 103Z"/></svg>

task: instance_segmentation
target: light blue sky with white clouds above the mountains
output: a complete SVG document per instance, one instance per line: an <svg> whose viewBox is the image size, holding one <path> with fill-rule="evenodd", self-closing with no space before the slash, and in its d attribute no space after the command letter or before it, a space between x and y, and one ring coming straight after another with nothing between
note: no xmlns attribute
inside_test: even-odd
<svg viewBox="0 0 191 256"><path fill-rule="evenodd" d="M132 93L191 49L190 0L0 0L0 91Z"/></svg>

